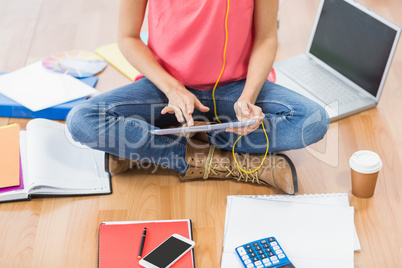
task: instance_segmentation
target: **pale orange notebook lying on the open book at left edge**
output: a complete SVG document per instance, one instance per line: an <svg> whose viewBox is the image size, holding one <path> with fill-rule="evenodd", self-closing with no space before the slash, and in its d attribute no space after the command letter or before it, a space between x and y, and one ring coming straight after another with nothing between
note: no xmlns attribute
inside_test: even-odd
<svg viewBox="0 0 402 268"><path fill-rule="evenodd" d="M0 188L20 184L20 125L0 127Z"/></svg>

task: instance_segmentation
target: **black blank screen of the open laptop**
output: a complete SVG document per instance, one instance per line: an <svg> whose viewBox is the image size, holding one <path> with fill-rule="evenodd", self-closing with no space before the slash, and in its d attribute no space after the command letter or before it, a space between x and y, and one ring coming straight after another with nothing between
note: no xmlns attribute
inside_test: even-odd
<svg viewBox="0 0 402 268"><path fill-rule="evenodd" d="M353 5L325 1L310 53L377 95L397 31Z"/></svg>

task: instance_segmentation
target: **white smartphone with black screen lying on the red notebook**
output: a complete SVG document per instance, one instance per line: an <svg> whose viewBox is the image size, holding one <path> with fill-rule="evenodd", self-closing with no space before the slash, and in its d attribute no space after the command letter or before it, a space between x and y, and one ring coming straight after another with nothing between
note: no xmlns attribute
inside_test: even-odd
<svg viewBox="0 0 402 268"><path fill-rule="evenodd" d="M195 242L173 234L142 258L139 264L146 268L168 268L195 246Z"/></svg>

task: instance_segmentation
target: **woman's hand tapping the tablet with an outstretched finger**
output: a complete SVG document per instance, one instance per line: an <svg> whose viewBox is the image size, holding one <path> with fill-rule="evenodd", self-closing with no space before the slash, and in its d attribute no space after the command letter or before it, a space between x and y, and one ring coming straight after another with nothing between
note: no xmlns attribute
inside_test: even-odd
<svg viewBox="0 0 402 268"><path fill-rule="evenodd" d="M194 125L194 120L191 116L194 112L194 108L201 112L209 111L209 108L204 106L197 97L183 85L178 85L165 94L169 99L169 104L162 109L161 114L174 113L177 121L183 123L184 119L186 119L187 126L189 127Z"/></svg>

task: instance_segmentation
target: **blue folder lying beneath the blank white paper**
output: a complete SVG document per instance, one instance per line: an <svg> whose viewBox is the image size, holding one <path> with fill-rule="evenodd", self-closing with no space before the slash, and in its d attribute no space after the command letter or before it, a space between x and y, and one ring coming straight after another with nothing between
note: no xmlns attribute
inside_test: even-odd
<svg viewBox="0 0 402 268"><path fill-rule="evenodd" d="M5 74L1 73L0 75ZM98 82L97 76L90 76L84 78L77 78L87 84L94 87ZM77 104L83 102L87 98L80 98L66 103L62 103L47 109L43 109L37 112L33 112L22 106L18 102L13 101L10 98L0 94L0 117L20 117L20 118L45 118L52 120L66 120L68 112Z"/></svg>

